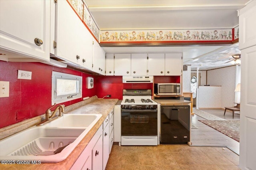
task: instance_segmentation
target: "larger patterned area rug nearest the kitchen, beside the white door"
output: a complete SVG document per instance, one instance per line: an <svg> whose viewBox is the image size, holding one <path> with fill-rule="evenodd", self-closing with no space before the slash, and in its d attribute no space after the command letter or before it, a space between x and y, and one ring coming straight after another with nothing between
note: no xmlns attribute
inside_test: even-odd
<svg viewBox="0 0 256 170"><path fill-rule="evenodd" d="M212 121L212 120L210 121L198 120L198 121L204 123L205 125L208 125L211 128L214 128L215 130L218 130L219 132L222 132L228 137L239 142L240 121Z"/></svg>

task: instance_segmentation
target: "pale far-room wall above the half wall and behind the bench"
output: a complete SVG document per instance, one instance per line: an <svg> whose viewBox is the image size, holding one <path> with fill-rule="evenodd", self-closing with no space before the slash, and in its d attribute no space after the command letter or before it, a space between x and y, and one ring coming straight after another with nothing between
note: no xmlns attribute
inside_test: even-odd
<svg viewBox="0 0 256 170"><path fill-rule="evenodd" d="M236 66L207 71L207 84L221 86L221 107L234 106L236 88Z"/></svg>

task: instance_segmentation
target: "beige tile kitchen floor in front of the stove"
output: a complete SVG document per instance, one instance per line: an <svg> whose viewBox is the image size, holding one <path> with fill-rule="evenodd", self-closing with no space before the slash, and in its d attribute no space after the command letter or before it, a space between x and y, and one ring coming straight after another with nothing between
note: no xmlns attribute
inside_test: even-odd
<svg viewBox="0 0 256 170"><path fill-rule="evenodd" d="M222 147L114 144L106 170L239 170L238 164L239 156Z"/></svg>

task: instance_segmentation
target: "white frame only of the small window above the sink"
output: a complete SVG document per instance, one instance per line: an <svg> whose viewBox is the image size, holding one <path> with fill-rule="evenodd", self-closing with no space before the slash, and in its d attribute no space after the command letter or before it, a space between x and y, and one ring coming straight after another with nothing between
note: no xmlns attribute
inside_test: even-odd
<svg viewBox="0 0 256 170"><path fill-rule="evenodd" d="M66 80L76 80L78 81L76 93L70 93L68 95L57 96L57 80L66 79ZM74 99L82 98L82 76L60 73L52 71L52 105L54 103L63 103L66 101L72 101Z"/></svg>

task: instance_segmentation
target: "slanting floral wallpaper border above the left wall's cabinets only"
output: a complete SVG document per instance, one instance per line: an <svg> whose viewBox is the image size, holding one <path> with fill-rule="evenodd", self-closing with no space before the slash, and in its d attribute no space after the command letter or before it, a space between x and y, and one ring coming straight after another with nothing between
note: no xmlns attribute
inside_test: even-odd
<svg viewBox="0 0 256 170"><path fill-rule="evenodd" d="M99 41L100 29L96 25L96 22L93 20L86 4L82 0L67 0L72 8L75 10L76 14L78 14L80 20L86 24L86 26L90 29L94 37Z"/></svg>

